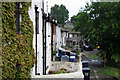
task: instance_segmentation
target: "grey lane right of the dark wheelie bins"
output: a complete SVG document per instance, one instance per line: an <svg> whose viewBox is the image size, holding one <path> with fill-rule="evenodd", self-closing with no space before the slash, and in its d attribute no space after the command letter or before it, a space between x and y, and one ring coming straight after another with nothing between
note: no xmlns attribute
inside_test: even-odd
<svg viewBox="0 0 120 80"><path fill-rule="evenodd" d="M96 59L93 59L88 56L88 54L90 54L91 56L94 56L96 52L97 52L96 49L94 49L93 51L84 51L85 56L82 57L82 60L89 61L89 67L91 69L90 78L94 80L105 80L105 79L118 80L111 76L98 74L98 70L104 68L102 65L103 60L98 57L96 57Z"/></svg>

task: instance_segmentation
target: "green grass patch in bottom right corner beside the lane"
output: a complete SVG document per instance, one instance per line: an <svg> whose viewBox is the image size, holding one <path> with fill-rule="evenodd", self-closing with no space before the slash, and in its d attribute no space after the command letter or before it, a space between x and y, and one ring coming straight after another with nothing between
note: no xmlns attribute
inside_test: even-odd
<svg viewBox="0 0 120 80"><path fill-rule="evenodd" d="M119 68L106 66L106 68L98 68L97 71L99 75L104 74L108 76L114 76L120 80L120 75L119 75L120 69Z"/></svg>

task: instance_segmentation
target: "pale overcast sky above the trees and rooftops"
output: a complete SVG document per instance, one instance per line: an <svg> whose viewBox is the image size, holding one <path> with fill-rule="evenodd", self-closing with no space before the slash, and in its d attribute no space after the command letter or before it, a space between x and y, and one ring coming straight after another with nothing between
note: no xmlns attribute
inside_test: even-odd
<svg viewBox="0 0 120 80"><path fill-rule="evenodd" d="M72 17L79 12L81 7L85 7L86 2L90 2L90 0L44 0L45 12L47 11L46 2L48 2L48 12L50 12L51 6L63 4L69 11L69 17Z"/></svg>

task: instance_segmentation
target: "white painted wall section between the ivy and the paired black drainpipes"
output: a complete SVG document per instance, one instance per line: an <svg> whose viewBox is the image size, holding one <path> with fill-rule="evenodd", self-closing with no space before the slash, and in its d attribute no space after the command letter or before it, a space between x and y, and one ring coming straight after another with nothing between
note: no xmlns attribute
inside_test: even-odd
<svg viewBox="0 0 120 80"><path fill-rule="evenodd" d="M34 48L34 51L36 49L35 47L35 44L36 44L36 37L35 37L35 5L38 7L38 11L39 11L39 34L37 34L37 73L40 73L43 74L43 60L42 60L42 12L41 12L41 8L42 8L42 0L32 0L32 5L31 7L29 8L29 15L30 15L30 19L32 20L33 22L33 29L34 29L34 34L33 34L33 48ZM36 51L35 51L36 53ZM35 65L34 67L32 68L32 71L31 71L31 75L35 75Z"/></svg>

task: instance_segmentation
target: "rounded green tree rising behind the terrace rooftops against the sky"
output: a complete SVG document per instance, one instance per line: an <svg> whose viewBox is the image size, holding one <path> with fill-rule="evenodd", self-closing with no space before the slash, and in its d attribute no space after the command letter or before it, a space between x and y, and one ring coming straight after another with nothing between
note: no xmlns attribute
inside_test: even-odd
<svg viewBox="0 0 120 80"><path fill-rule="evenodd" d="M66 9L66 7L62 5L55 4L53 7L51 7L51 16L52 19L57 20L58 24L65 24L65 21L69 18L69 11Z"/></svg>

